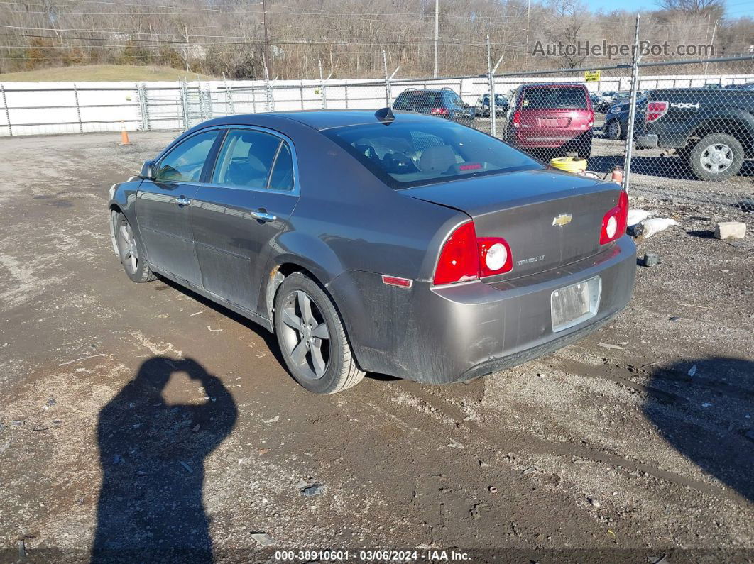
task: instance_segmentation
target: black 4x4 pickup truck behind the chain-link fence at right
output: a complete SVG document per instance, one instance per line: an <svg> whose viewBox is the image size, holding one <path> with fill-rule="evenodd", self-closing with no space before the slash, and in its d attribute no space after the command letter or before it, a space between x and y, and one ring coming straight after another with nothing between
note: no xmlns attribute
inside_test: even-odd
<svg viewBox="0 0 754 564"><path fill-rule="evenodd" d="M676 149L700 180L731 178L754 158L754 92L652 90L636 147Z"/></svg>

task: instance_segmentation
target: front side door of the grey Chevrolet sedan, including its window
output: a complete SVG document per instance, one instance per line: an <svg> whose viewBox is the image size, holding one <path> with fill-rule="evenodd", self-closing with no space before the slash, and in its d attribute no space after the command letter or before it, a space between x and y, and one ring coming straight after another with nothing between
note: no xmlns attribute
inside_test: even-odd
<svg viewBox="0 0 754 564"><path fill-rule="evenodd" d="M171 148L155 163L155 178L145 179L136 193L136 221L149 263L195 285L201 275L189 208L218 134L202 131Z"/></svg>

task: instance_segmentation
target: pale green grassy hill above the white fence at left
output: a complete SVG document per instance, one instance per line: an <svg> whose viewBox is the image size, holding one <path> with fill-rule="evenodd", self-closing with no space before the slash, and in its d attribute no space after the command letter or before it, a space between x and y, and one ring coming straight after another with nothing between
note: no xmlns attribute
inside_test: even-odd
<svg viewBox="0 0 754 564"><path fill-rule="evenodd" d="M196 80L197 73L167 66L86 65L36 69L0 74L0 82L97 82L97 81L177 81ZM203 81L212 80L199 75Z"/></svg>

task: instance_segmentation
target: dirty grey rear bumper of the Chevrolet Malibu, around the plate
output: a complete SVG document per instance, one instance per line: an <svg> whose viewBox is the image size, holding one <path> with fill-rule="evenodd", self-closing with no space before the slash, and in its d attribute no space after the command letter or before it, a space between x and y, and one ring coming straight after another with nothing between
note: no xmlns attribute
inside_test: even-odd
<svg viewBox="0 0 754 564"><path fill-rule="evenodd" d="M336 278L331 291L363 370L441 384L521 364L596 331L627 305L635 273L636 246L624 236L594 257L495 285L417 281L406 289L351 272ZM602 279L596 315L553 333L550 294L596 275ZM349 296L351 282L358 290ZM349 297L360 303L351 306Z"/></svg>

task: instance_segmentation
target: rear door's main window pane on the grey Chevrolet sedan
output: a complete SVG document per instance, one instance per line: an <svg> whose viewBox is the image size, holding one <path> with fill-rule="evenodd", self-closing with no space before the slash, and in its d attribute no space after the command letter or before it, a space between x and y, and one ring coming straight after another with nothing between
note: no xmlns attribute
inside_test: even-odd
<svg viewBox="0 0 754 564"><path fill-rule="evenodd" d="M222 143L213 184L265 188L281 139L256 130L231 130Z"/></svg>

